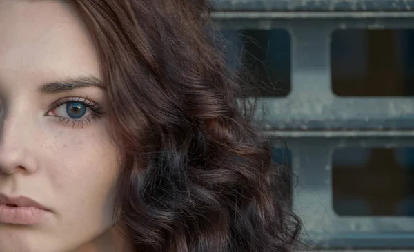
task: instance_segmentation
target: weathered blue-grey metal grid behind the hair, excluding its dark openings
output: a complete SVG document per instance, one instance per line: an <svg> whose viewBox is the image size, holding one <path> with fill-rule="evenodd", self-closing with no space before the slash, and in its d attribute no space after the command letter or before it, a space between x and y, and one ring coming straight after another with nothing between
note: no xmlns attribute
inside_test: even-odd
<svg viewBox="0 0 414 252"><path fill-rule="evenodd" d="M268 134L286 138L292 153L299 178L293 201L312 243L321 249L414 249L414 218L337 216L331 165L338 148L413 147L414 99L336 96L330 63L333 31L414 28L414 1L213 3L219 28L290 33L291 92L262 102L269 108Z"/></svg>

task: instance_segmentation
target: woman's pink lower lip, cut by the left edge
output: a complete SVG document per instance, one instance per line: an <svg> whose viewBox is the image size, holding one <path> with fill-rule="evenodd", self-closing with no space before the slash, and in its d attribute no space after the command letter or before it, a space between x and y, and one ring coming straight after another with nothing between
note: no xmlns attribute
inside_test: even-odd
<svg viewBox="0 0 414 252"><path fill-rule="evenodd" d="M41 222L48 211L36 207L9 207L0 204L0 223L32 225Z"/></svg>

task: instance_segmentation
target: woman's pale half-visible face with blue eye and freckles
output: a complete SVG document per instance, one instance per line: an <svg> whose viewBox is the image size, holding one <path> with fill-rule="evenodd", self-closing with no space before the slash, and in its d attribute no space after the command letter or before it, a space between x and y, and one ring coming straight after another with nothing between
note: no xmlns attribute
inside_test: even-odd
<svg viewBox="0 0 414 252"><path fill-rule="evenodd" d="M73 251L111 229L119 171L97 52L60 1L0 0L0 34L0 251Z"/></svg>

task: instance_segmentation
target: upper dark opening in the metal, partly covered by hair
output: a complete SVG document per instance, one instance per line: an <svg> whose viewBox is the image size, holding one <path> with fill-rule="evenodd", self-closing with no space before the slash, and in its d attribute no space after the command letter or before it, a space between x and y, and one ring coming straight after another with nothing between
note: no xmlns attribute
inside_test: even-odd
<svg viewBox="0 0 414 252"><path fill-rule="evenodd" d="M259 96L290 92L290 34L286 30L222 30L224 53L232 69L244 65ZM242 70L242 71L245 71Z"/></svg>

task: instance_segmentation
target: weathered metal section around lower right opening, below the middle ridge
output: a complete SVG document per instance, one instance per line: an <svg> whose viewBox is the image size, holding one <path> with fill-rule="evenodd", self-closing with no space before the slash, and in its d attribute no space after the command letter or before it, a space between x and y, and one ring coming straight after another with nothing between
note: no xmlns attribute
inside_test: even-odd
<svg viewBox="0 0 414 252"><path fill-rule="evenodd" d="M414 249L414 218L338 216L333 211L332 154L344 147L412 147L414 137L287 138L299 178L295 209L304 238L318 249Z"/></svg>

